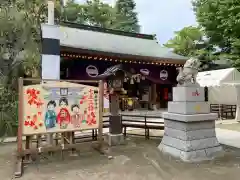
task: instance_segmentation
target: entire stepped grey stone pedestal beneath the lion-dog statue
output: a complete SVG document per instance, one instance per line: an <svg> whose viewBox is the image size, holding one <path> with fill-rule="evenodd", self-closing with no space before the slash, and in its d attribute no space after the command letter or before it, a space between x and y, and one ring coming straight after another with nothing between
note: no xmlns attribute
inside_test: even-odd
<svg viewBox="0 0 240 180"><path fill-rule="evenodd" d="M217 114L210 113L204 88L175 87L173 102L163 113L164 137L158 146L163 153L186 162L211 160L221 155L215 133Z"/></svg>

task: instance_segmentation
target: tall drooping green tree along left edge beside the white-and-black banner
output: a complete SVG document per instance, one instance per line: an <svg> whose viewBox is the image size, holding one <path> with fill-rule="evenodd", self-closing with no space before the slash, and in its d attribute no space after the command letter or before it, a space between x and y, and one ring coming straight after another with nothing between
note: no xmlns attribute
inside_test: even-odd
<svg viewBox="0 0 240 180"><path fill-rule="evenodd" d="M0 137L17 127L17 78L39 76L40 23L46 17L42 1L4 1L0 6ZM24 73L25 71L25 73Z"/></svg>

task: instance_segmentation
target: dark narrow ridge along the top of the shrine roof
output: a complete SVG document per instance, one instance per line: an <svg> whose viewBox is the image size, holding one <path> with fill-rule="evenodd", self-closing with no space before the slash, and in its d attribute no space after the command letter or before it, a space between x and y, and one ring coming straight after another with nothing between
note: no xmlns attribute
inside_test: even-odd
<svg viewBox="0 0 240 180"><path fill-rule="evenodd" d="M127 37L139 38L139 39L155 40L154 35L151 35L151 34L125 32L125 31L107 29L107 28L102 28L102 27L97 27L97 26L78 24L78 23L73 23L73 22L68 22L68 21L62 21L62 22L60 22L60 25L66 26L66 27L71 27L71 28L76 28L76 29L83 29L83 30L88 30L88 31L114 34L114 35L119 35L119 36L127 36Z"/></svg>

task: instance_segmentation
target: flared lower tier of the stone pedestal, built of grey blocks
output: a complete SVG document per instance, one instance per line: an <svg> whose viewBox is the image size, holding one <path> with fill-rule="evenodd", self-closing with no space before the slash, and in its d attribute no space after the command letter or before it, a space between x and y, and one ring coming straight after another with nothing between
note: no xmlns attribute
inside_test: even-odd
<svg viewBox="0 0 240 180"><path fill-rule="evenodd" d="M158 146L163 153L185 162L212 160L222 155L215 133L215 122L165 120L164 137Z"/></svg>

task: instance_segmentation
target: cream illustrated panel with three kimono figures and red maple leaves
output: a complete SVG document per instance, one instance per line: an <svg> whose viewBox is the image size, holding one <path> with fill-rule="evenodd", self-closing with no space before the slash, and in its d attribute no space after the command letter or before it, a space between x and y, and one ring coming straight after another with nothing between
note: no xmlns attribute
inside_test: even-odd
<svg viewBox="0 0 240 180"><path fill-rule="evenodd" d="M23 87L23 134L95 129L99 88L68 82Z"/></svg>

